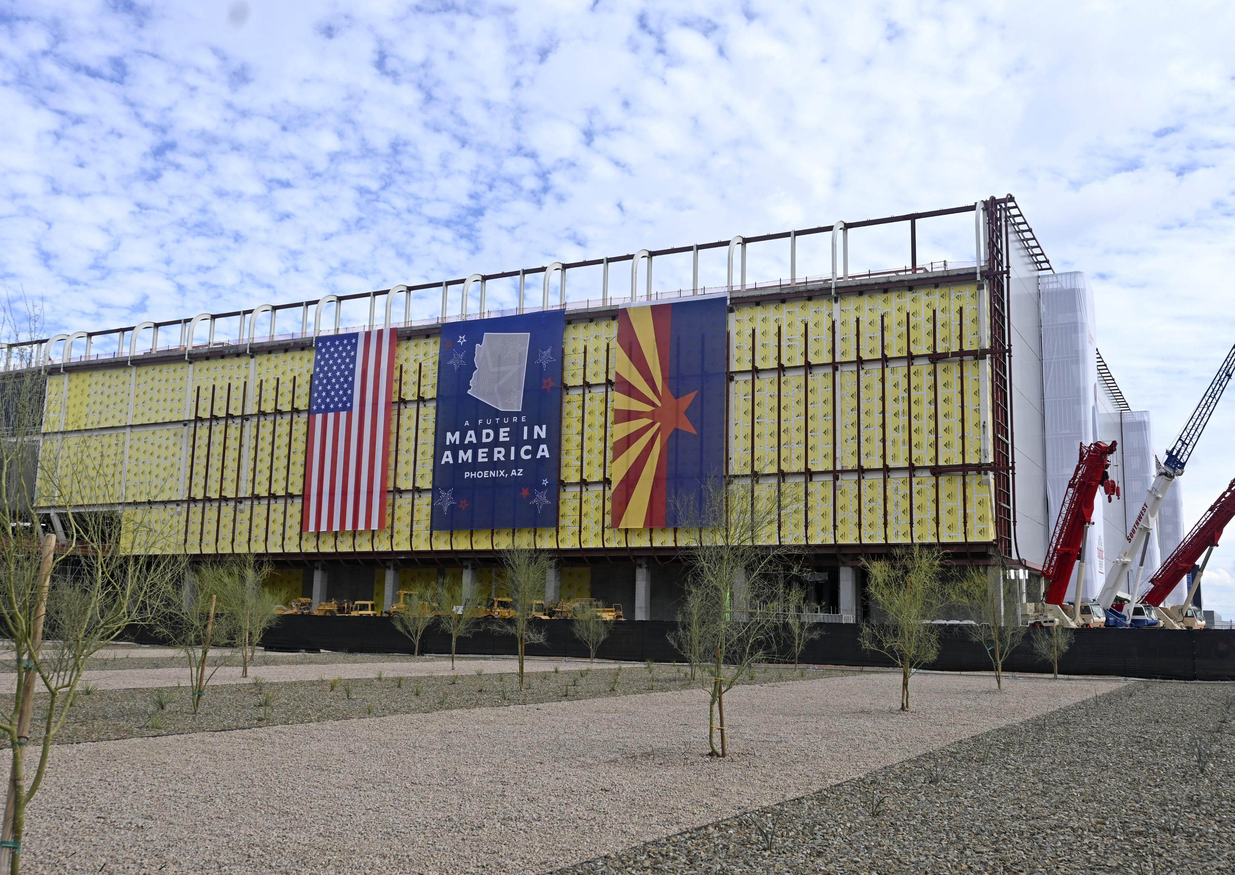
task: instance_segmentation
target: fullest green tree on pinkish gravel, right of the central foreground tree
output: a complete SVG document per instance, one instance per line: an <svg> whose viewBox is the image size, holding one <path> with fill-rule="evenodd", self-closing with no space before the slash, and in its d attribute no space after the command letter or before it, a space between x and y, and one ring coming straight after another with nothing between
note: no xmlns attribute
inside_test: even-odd
<svg viewBox="0 0 1235 875"><path fill-rule="evenodd" d="M909 679L939 655L939 626L931 621L950 596L944 553L915 544L888 559L863 559L862 566L871 605L881 617L862 623L858 642L900 669L900 710L908 711Z"/></svg>

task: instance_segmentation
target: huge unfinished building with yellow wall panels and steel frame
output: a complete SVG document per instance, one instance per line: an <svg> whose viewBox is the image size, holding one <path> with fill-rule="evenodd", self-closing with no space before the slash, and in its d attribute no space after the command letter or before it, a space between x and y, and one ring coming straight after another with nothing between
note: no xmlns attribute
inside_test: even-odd
<svg viewBox="0 0 1235 875"><path fill-rule="evenodd" d="M919 239L944 222L963 228L951 239L966 251L948 253L961 260L920 260ZM878 234L881 252L897 241L900 267L851 270L863 234ZM787 257L788 275L748 280L756 248L778 253L779 264ZM823 253L821 275L799 275L808 251ZM722 286L700 285L700 259L726 259ZM692 281L662 290L653 263L662 275L671 273L662 264L689 265ZM517 284L517 305L489 311L487 294L503 283ZM438 291L440 315L425 318L417 310ZM673 525L618 527L614 516L619 323L634 304L715 295L727 299L722 441L713 434L722 473L782 496L767 539L800 550L810 601L830 620L862 616L863 557L910 542L966 563L1002 557L1032 589L1081 442L1119 441L1113 474L1134 505L1152 478L1149 415L1131 411L1098 354L1084 278L1053 273L1011 196L362 295L254 301L58 334L23 344L23 357L10 348L6 363L35 362L47 375L37 504L48 525L70 505L114 512L126 533L157 533L127 537L132 549L200 559L251 552L275 565L272 585L287 599L387 606L442 570L489 591L498 552L536 544L559 560L547 599L590 596L624 605L631 620L669 620L687 536ZM556 487L545 497L556 526L443 529L436 515L451 507L433 487L447 348L475 320L548 311L564 318L557 484L545 478L546 490ZM369 490L384 501L382 525L315 531L304 505L315 355L325 338L380 328L395 332L382 384L390 397L384 494ZM689 407L685 416L689 426ZM72 476L86 463L107 476ZM65 485L74 483L83 485ZM1178 489L1172 495L1178 520ZM1131 523L1123 502L1103 512L1092 581ZM1178 541L1182 520L1170 520L1166 512L1162 538Z"/></svg>

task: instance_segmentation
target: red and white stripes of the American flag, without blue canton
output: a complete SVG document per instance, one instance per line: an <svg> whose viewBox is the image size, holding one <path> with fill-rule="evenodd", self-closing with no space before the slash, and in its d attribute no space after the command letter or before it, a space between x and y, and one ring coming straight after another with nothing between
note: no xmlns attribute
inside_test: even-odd
<svg viewBox="0 0 1235 875"><path fill-rule="evenodd" d="M352 410L309 417L301 531L354 532L387 526L395 339L394 328L361 332Z"/></svg>

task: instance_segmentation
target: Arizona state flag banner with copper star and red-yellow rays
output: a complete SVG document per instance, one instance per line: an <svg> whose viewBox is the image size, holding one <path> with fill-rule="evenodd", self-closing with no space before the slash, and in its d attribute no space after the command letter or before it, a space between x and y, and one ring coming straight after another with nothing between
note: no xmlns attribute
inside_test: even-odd
<svg viewBox="0 0 1235 875"><path fill-rule="evenodd" d="M613 528L700 522L725 465L727 311L724 295L619 311Z"/></svg>

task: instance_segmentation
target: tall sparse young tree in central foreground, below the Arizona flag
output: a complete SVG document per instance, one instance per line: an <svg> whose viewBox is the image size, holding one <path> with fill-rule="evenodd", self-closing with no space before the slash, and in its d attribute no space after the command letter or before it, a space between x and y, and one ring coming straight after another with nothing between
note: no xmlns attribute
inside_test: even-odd
<svg viewBox="0 0 1235 875"><path fill-rule="evenodd" d="M725 694L774 649L771 606L789 553L768 533L781 510L772 490L752 495L750 486L713 481L704 490L704 525L682 552L687 592L676 643L706 679L714 757L729 753Z"/></svg>

